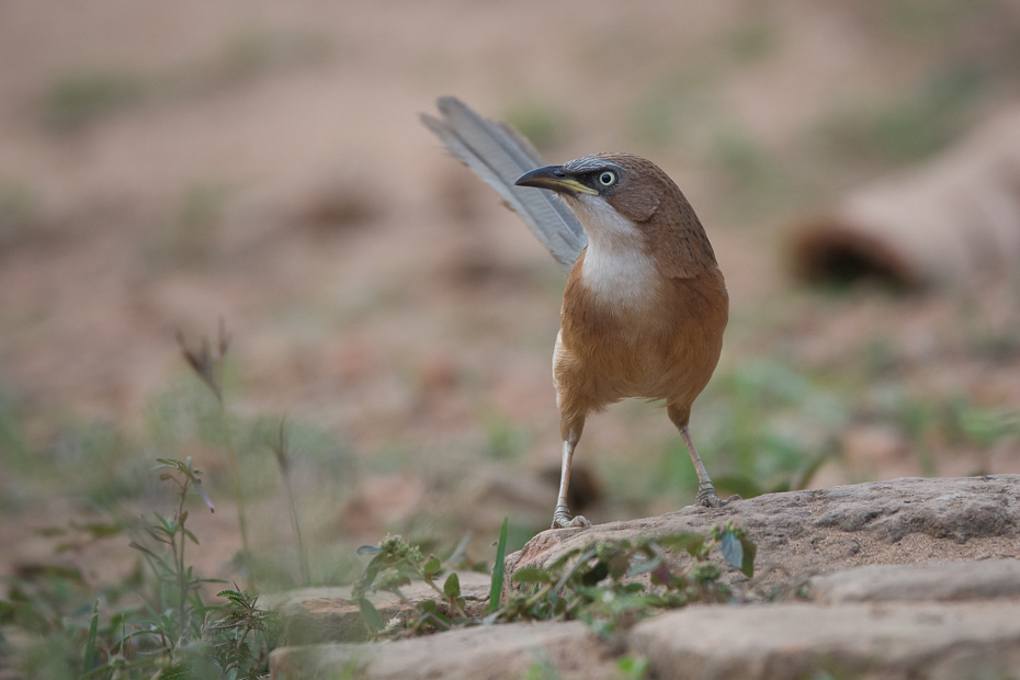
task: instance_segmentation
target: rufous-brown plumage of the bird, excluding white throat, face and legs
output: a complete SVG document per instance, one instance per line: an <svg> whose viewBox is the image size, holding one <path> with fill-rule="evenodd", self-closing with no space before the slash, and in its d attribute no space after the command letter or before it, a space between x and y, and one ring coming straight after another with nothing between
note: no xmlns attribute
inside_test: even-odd
<svg viewBox="0 0 1020 680"><path fill-rule="evenodd" d="M587 249L575 263L553 369L560 429L565 438L570 430L579 437L588 413L627 397L665 399L682 427L718 362L726 284L698 216L665 172L637 156L594 158L633 172L607 203L637 228L636 245L657 276L646 297L620 306L600 299L586 282Z"/></svg>

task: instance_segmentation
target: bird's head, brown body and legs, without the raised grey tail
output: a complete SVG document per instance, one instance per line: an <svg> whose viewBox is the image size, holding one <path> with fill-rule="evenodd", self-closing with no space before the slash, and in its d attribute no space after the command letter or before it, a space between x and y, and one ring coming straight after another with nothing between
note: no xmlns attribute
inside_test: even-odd
<svg viewBox="0 0 1020 680"><path fill-rule="evenodd" d="M553 381L564 461L553 526L587 526L566 505L574 447L589 413L625 399L662 399L699 478L699 502L722 506L688 431L712 377L729 315L712 245L680 189L655 163L598 154L523 174L559 193L588 236L570 270Z"/></svg>

